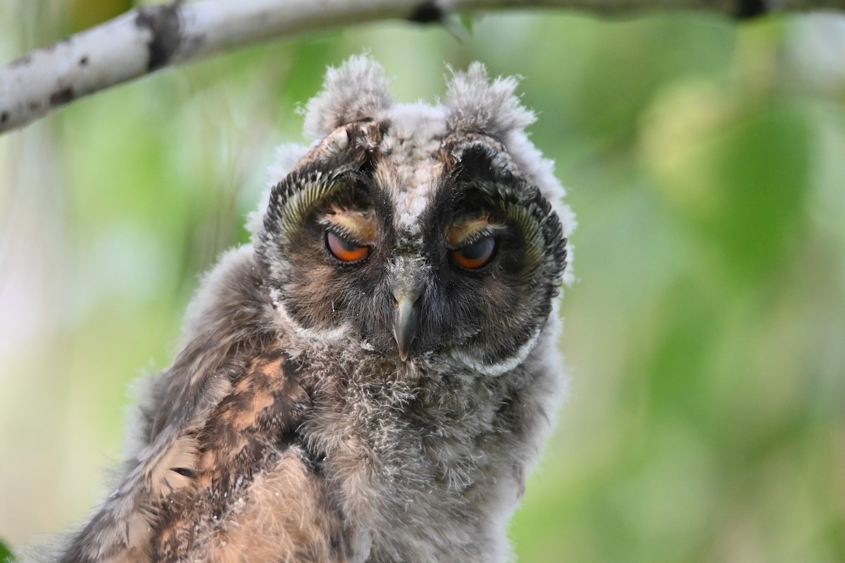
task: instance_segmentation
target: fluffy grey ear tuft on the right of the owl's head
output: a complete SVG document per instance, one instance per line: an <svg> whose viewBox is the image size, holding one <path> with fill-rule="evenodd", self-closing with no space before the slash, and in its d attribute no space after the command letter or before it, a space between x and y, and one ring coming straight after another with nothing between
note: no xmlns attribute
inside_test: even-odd
<svg viewBox="0 0 845 563"><path fill-rule="evenodd" d="M446 94L450 130L501 139L531 125L534 113L515 95L517 84L510 76L490 82L481 62L473 62L466 73L453 70Z"/></svg>

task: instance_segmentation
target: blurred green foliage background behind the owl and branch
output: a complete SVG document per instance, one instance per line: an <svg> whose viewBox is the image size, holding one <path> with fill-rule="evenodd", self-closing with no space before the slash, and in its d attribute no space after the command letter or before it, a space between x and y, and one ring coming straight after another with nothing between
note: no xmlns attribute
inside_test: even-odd
<svg viewBox="0 0 845 563"><path fill-rule="evenodd" d="M0 62L131 4L3 0ZM442 95L444 63L520 74L578 214L572 392L519 559L845 560L845 19L469 23L267 43L0 137L0 538L41 541L104 495L131 382L246 241L325 66L369 51L400 101Z"/></svg>

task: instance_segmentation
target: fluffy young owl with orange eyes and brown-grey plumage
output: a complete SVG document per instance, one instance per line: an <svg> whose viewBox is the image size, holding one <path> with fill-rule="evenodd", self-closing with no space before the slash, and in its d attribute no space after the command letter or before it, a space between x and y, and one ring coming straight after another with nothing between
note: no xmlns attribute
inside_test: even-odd
<svg viewBox="0 0 845 563"><path fill-rule="evenodd" d="M41 560L509 560L566 376L574 225L513 78L394 104L353 57L188 306L117 485ZM569 273L567 272L567 276Z"/></svg>

